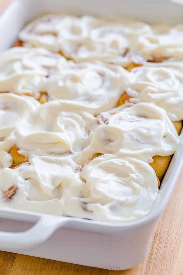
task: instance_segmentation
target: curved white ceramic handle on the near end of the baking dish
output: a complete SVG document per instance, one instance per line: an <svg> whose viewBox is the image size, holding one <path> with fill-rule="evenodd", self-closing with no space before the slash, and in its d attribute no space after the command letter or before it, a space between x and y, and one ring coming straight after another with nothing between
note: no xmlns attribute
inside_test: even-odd
<svg viewBox="0 0 183 275"><path fill-rule="evenodd" d="M24 232L0 231L0 246L4 249L31 248L46 241L64 221L64 218L57 220L54 216L41 216L36 224Z"/></svg>

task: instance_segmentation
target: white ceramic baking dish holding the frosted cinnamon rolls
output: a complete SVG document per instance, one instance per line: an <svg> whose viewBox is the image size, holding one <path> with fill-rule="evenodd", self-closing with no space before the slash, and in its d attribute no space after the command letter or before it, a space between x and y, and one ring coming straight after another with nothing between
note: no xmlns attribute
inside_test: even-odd
<svg viewBox="0 0 183 275"><path fill-rule="evenodd" d="M165 21L176 24L182 22L183 6L170 0L13 1L0 17L0 52L10 48L25 23L43 13L52 12L77 15L117 14L147 23ZM130 224L108 224L1 209L0 249L112 270L131 268L148 254L159 218L168 203L182 166L183 149L180 143L161 185L159 203L149 216ZM9 232L9 219L13 220L13 232ZM32 226L31 222L35 224ZM29 227L31 228L24 231Z"/></svg>

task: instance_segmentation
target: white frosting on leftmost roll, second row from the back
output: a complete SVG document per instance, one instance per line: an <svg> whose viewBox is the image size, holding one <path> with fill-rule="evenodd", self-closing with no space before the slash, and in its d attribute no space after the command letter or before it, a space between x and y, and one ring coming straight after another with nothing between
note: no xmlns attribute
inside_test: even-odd
<svg viewBox="0 0 183 275"><path fill-rule="evenodd" d="M36 93L40 84L68 61L43 48L15 47L0 56L0 92Z"/></svg>

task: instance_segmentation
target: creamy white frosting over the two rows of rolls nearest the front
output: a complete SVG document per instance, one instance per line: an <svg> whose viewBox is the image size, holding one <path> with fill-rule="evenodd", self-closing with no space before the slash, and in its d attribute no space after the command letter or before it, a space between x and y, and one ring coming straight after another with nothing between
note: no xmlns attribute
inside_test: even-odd
<svg viewBox="0 0 183 275"><path fill-rule="evenodd" d="M94 117L77 106L73 109L73 104L49 101L41 105L27 98L0 95L0 101L14 100L17 105L11 103L3 110L12 112L13 108L15 123L0 144L0 161L7 160L0 172L1 207L106 222L131 222L150 213L159 191L148 161L156 153L174 153L178 143L162 108L126 103ZM103 133L119 138L105 143ZM12 159L7 152L14 144L28 163L10 169ZM105 155L83 166L76 162L101 148Z"/></svg>

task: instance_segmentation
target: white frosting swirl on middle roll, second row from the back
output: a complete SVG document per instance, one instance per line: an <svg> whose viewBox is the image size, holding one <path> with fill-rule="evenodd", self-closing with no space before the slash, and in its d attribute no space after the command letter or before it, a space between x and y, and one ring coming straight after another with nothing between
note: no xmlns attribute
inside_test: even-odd
<svg viewBox="0 0 183 275"><path fill-rule="evenodd" d="M81 110L98 115L116 107L128 77L125 69L114 65L70 64L48 77L40 90L52 100L73 101Z"/></svg>

